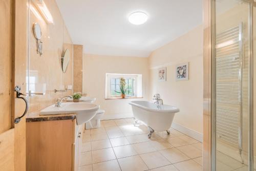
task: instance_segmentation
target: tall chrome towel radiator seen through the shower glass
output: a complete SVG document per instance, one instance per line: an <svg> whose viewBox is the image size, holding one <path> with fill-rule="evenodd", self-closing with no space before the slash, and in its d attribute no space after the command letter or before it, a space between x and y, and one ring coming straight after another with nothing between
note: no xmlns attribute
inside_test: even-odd
<svg viewBox="0 0 256 171"><path fill-rule="evenodd" d="M242 152L242 24L216 38L216 135Z"/></svg>

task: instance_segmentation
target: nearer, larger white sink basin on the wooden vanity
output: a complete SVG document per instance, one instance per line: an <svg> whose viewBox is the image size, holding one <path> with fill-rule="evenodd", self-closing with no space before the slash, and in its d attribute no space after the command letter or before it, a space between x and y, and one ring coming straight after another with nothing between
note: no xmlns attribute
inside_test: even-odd
<svg viewBox="0 0 256 171"><path fill-rule="evenodd" d="M76 113L77 124L88 122L95 115L99 109L99 105L93 103L74 103L66 102L62 103L60 107L56 107L55 104L48 106L40 111L40 115L56 115L56 114L70 114Z"/></svg>

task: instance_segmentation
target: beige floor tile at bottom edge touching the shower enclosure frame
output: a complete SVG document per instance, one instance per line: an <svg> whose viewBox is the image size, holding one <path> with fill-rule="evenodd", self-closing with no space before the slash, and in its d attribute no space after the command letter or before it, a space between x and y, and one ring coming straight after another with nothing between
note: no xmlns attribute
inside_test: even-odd
<svg viewBox="0 0 256 171"><path fill-rule="evenodd" d="M202 171L202 166L193 160L175 163L174 166L177 167L180 171Z"/></svg>

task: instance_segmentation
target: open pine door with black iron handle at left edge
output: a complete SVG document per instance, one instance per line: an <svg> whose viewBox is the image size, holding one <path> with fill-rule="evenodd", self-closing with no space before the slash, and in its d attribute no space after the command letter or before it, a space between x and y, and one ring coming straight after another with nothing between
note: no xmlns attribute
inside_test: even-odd
<svg viewBox="0 0 256 171"><path fill-rule="evenodd" d="M27 0L0 0L0 170L26 170L26 120L15 124L26 92Z"/></svg>

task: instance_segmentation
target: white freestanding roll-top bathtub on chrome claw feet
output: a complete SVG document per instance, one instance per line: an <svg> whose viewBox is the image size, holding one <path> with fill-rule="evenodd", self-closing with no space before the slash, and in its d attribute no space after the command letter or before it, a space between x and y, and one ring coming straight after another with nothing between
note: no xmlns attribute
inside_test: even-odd
<svg viewBox="0 0 256 171"><path fill-rule="evenodd" d="M172 125L175 113L180 110L175 106L161 105L150 101L131 101L134 118L141 121L144 125L148 126L150 133L148 138L154 131L167 131Z"/></svg>

